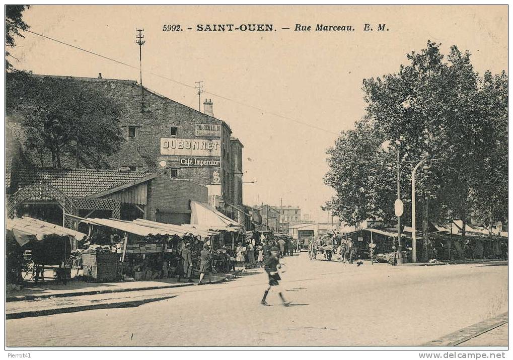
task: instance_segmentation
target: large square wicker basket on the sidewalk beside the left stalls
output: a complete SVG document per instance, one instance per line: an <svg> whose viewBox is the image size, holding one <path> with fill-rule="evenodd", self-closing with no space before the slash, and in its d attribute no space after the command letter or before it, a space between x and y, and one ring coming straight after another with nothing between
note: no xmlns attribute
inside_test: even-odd
<svg viewBox="0 0 513 360"><path fill-rule="evenodd" d="M96 252L82 254L84 276L96 282L117 280L117 254L115 252Z"/></svg>

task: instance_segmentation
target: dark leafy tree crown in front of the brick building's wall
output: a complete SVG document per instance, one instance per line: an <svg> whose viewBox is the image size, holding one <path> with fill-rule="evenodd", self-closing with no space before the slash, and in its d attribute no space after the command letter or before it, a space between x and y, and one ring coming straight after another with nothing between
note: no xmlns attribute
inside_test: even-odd
<svg viewBox="0 0 513 360"><path fill-rule="evenodd" d="M66 78L10 73L6 106L24 129L24 145L54 168L62 158L105 165L105 156L120 147L119 105L92 89ZM43 166L43 164L42 164Z"/></svg>

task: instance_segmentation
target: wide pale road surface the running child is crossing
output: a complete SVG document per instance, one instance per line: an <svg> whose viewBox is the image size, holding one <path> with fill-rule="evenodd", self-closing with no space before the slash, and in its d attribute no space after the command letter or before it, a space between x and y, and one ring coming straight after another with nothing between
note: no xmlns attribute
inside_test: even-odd
<svg viewBox="0 0 513 360"><path fill-rule="evenodd" d="M7 345L418 346L507 311L505 265L357 266L306 253L285 261L288 308L275 294L260 305L259 269L218 285L139 291L177 296L137 308L8 320Z"/></svg>

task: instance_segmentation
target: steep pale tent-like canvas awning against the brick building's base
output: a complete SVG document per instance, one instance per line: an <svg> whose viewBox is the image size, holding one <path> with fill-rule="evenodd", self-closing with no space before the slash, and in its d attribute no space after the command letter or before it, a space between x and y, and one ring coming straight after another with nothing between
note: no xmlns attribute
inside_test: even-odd
<svg viewBox="0 0 513 360"><path fill-rule="evenodd" d="M241 224L210 205L193 200L191 201L191 223L189 225L214 231L241 231L243 228Z"/></svg>

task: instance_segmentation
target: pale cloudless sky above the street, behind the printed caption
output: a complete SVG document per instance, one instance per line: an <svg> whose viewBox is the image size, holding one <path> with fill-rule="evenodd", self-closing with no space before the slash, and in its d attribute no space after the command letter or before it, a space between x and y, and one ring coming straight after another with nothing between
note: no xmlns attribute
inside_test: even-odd
<svg viewBox="0 0 513 360"><path fill-rule="evenodd" d="M333 194L323 182L326 149L365 114L364 78L398 71L428 39L443 53L469 50L479 72L507 70L507 6L32 6L23 18L31 31L135 67L25 33L11 62L38 74L138 81L135 30L144 29L143 84L196 109L194 85L203 81L202 102L211 98L214 116L244 144L244 182L254 182L244 184L244 203L282 199L319 221ZM167 24L184 31L163 31ZM276 31L199 32L198 24Z"/></svg>

